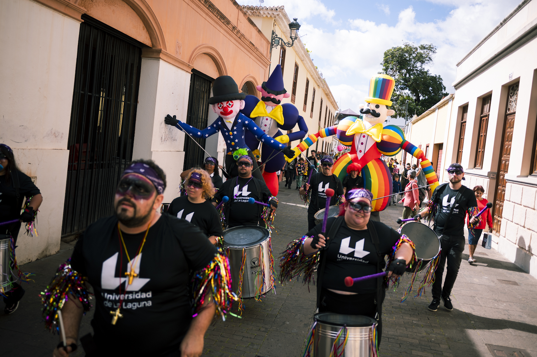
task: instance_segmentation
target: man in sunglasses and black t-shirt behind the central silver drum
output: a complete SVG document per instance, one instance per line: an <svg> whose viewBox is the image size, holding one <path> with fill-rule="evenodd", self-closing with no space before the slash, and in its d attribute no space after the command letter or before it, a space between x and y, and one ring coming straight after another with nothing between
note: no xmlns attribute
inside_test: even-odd
<svg viewBox="0 0 537 357"><path fill-rule="evenodd" d="M250 204L248 199L253 197L258 202L268 203L270 209L278 207L278 201L272 196L265 181L252 176L253 160L249 155L237 158L238 176L230 178L214 196L213 205L222 201L222 197L229 197L224 204L224 216L228 228L245 225L259 225L265 206Z"/></svg>

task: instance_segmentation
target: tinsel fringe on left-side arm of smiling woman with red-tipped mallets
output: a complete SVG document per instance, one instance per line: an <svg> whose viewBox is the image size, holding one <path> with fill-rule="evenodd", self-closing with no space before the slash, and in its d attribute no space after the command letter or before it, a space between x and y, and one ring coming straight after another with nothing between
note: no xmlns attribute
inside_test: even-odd
<svg viewBox="0 0 537 357"><path fill-rule="evenodd" d="M304 274L302 278L303 284L310 283L314 277L314 269L319 262L320 252L314 254L304 254L303 244L311 236L304 235L299 239L295 239L287 245L286 250L280 256L280 284L286 281L291 281ZM315 284L315 279L314 279Z"/></svg>

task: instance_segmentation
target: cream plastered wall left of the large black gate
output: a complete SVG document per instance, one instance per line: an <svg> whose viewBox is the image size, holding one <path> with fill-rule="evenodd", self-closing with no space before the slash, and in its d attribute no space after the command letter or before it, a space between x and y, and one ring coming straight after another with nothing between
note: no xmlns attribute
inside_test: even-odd
<svg viewBox="0 0 537 357"><path fill-rule="evenodd" d="M43 196L39 236L19 233L19 264L60 249L79 27L29 0L0 2L0 142Z"/></svg>

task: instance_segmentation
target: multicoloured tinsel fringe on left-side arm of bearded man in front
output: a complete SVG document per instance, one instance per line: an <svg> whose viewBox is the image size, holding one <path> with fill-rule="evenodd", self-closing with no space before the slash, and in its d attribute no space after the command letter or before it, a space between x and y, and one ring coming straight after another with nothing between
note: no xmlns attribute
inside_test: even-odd
<svg viewBox="0 0 537 357"><path fill-rule="evenodd" d="M85 287L86 278L71 268L70 261L71 258L60 265L45 292L41 293L42 316L46 328L52 330L53 333L60 333L57 310L61 309L68 300L69 293L82 303L84 314L91 308L91 296Z"/></svg>

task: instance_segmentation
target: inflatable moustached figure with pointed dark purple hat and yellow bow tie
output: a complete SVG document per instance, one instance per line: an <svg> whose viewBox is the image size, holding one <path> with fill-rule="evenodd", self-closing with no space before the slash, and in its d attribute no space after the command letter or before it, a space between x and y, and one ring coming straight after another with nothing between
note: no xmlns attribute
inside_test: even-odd
<svg viewBox="0 0 537 357"><path fill-rule="evenodd" d="M281 66L278 64L274 68L269 80L257 86L261 92L261 100L254 95L246 95L245 105L241 113L252 118L263 133L274 138L282 144L301 140L306 136L308 127L304 118L299 115L299 110L291 103L281 104L281 100L291 96L284 88L284 78L281 73ZM295 125L299 125L299 131L289 134L282 133L292 130ZM250 132L245 134L246 145L250 150L256 150L260 139ZM285 165L284 154L279 150L274 150L269 143L261 143L261 162L265 163L263 177L273 196L278 194L278 176L276 172ZM270 160L269 160L270 159Z"/></svg>

